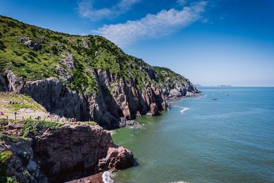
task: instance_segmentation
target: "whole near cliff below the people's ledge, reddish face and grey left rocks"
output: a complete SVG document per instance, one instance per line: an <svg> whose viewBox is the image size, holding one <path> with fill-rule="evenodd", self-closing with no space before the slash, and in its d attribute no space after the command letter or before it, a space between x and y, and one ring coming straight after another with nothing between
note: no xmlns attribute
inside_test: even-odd
<svg viewBox="0 0 274 183"><path fill-rule="evenodd" d="M132 152L98 125L1 119L0 127L1 179L64 182L134 165Z"/></svg>

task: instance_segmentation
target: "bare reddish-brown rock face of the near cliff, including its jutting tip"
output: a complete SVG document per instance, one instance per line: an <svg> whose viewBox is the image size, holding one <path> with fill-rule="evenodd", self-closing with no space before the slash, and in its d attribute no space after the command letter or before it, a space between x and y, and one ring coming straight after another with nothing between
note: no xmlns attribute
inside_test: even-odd
<svg viewBox="0 0 274 183"><path fill-rule="evenodd" d="M33 149L51 182L134 165L132 152L114 145L110 133L98 126L70 124L62 130L44 132L34 138Z"/></svg>

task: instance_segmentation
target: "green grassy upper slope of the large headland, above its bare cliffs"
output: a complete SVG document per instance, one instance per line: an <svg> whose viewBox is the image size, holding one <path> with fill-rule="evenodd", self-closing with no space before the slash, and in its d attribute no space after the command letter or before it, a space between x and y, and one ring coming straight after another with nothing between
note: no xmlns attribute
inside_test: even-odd
<svg viewBox="0 0 274 183"><path fill-rule="evenodd" d="M25 80L58 77L56 66L61 64L59 60L64 58L62 54L69 52L76 60L75 69L67 69L73 75L73 81L66 86L83 93L97 93L98 90L90 69L104 69L125 80L136 80L139 89L144 87L145 81L156 85L167 85L174 80L188 82L169 69L149 66L123 53L119 47L101 36L74 36L49 29L42 29L41 32L40 27L4 16L0 16L0 25L0 72L11 69ZM19 43L18 40L23 37L40 42L42 49L34 51ZM87 40L88 49L84 48L82 39ZM148 77L146 68L157 71L155 79Z"/></svg>

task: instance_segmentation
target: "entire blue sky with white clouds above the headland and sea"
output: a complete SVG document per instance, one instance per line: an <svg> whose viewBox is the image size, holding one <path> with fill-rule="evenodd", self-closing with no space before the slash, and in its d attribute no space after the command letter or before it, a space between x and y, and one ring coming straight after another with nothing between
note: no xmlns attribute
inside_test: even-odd
<svg viewBox="0 0 274 183"><path fill-rule="evenodd" d="M274 86L273 0L0 0L0 14L104 36L194 84Z"/></svg>

